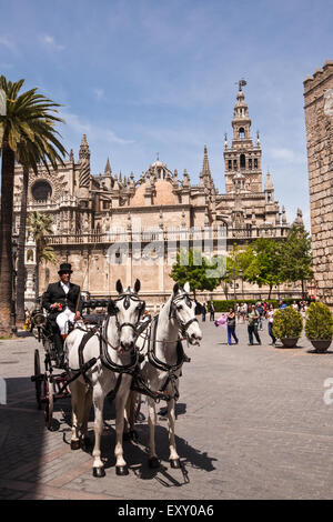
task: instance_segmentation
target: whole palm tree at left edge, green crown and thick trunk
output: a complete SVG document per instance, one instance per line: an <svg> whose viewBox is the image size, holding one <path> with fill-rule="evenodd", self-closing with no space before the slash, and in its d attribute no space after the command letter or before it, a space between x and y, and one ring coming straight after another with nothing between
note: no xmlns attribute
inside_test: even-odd
<svg viewBox="0 0 333 522"><path fill-rule="evenodd" d="M38 163L50 160L57 168L57 149L64 149L57 138L54 123L63 121L54 113L58 103L31 89L19 96L24 80L10 82L1 76L0 89L7 97L7 113L0 116L1 222L0 222L0 335L11 335L12 312L12 210L14 162L37 172ZM28 174L27 174L28 175Z"/></svg>

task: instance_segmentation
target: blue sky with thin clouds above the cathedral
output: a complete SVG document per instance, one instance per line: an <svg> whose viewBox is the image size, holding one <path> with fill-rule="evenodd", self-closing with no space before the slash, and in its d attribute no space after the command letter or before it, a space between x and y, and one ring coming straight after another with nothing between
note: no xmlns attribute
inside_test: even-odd
<svg viewBox="0 0 333 522"><path fill-rule="evenodd" d="M0 73L61 103L75 159L139 177L157 158L196 182L208 145L224 191L224 132L245 78L252 135L287 219L310 225L303 80L333 59L333 2L0 0ZM331 26L331 27L330 27Z"/></svg>

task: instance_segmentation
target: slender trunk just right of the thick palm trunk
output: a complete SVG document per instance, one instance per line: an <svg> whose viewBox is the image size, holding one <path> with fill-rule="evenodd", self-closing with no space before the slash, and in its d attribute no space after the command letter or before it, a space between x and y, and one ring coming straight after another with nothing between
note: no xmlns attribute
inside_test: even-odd
<svg viewBox="0 0 333 522"><path fill-rule="evenodd" d="M20 231L18 241L18 273L17 273L17 323L24 322L24 290L26 290L26 230L27 230L27 199L28 199L29 169L23 168L23 187L20 212Z"/></svg>

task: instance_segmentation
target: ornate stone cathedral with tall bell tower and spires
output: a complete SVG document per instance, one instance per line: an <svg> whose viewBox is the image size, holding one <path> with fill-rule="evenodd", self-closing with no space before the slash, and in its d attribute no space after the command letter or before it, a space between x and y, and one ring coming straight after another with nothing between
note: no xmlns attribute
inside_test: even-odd
<svg viewBox="0 0 333 522"><path fill-rule="evenodd" d="M109 159L104 173L95 175L90 168L85 134L77 160L71 150L57 172L40 167L37 177L30 175L28 212L51 214L53 234L49 244L59 263L72 264L72 281L82 290L95 298L114 295L118 279L124 285L133 285L139 278L143 299L155 307L170 295L174 281L169 274L180 247L202 247L209 238L213 253L222 255L234 243L286 237L290 224L284 207L275 200L271 173L262 179L261 142L259 133L255 139L251 133L244 84L239 83L232 140L229 142L226 134L224 139L225 193L215 188L205 145L196 184L186 170L179 175L159 158L140 177L113 172ZM21 187L22 168L17 165L13 237L19 231ZM302 222L300 209L295 222ZM58 265L41 263L37 274L36 244L31 237L27 238L28 307L36 297L37 278L42 292L49 282L58 280ZM273 294L276 297L280 291L275 289ZM238 300L266 297L263 288L241 282L240 274L234 277L229 292L230 298ZM297 292L292 285L284 288L284 294L293 297ZM225 299L225 288L219 287L204 299L212 297Z"/></svg>

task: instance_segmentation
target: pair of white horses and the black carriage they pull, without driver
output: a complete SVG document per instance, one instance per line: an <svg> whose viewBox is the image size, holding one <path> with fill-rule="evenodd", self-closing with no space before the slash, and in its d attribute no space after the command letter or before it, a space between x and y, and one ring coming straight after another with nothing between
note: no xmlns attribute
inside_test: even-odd
<svg viewBox="0 0 333 522"><path fill-rule="evenodd" d="M53 403L71 396L72 438L71 449L85 448L88 443L88 419L94 408L93 475L104 476L100 440L103 426L105 396L115 402L115 471L128 474L123 459L125 408L129 433L134 432L135 413L141 404L141 394L147 395L149 411L149 464L159 466L154 445L155 402L167 401L169 420L170 463L180 466L175 450L175 402L179 398L179 377L186 360L181 341L200 344L201 330L195 318L195 305L190 298L188 283L175 284L161 312L151 318L144 313L145 303L134 289L123 289L117 282L118 298L105 302L85 302L84 308L102 305L101 321L89 319L70 331L64 341L65 368L59 368L58 353L52 339L52 329L42 311L32 317L32 328L44 348L44 372L41 372L39 350L34 352L34 375L38 406L44 405L46 425L52 428Z"/></svg>

